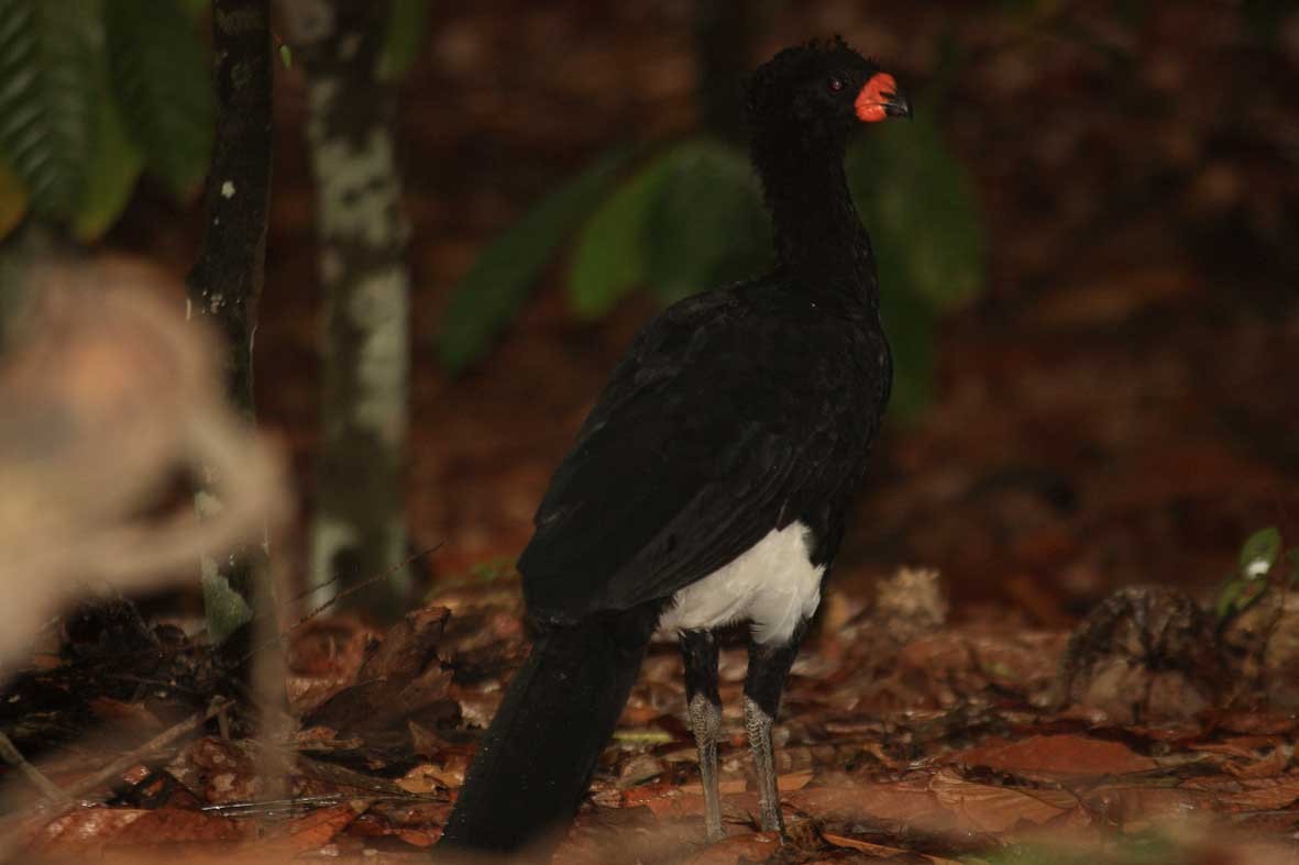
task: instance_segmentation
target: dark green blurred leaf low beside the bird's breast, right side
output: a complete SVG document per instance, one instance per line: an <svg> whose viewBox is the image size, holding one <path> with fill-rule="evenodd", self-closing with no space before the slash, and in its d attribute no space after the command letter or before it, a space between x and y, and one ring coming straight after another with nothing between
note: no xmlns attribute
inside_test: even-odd
<svg viewBox="0 0 1299 865"><path fill-rule="evenodd" d="M934 399L937 316L924 297L896 287L899 278L883 262L879 282L883 286L879 314L894 360L889 417L907 422L918 417Z"/></svg>

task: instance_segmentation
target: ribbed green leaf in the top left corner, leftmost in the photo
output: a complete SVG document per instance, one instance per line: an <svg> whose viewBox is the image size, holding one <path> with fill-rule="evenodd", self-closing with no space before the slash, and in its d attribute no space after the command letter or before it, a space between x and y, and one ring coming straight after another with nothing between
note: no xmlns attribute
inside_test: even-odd
<svg viewBox="0 0 1299 865"><path fill-rule="evenodd" d="M96 26L82 0L0 0L0 157L40 216L66 218L81 203Z"/></svg>

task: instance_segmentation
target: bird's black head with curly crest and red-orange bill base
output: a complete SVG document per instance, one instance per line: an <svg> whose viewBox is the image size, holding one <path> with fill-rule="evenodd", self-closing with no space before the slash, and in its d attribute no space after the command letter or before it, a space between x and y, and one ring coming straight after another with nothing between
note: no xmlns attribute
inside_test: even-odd
<svg viewBox="0 0 1299 865"><path fill-rule="evenodd" d="M748 81L755 138L804 145L842 145L857 123L911 117L894 77L838 36L786 48Z"/></svg>

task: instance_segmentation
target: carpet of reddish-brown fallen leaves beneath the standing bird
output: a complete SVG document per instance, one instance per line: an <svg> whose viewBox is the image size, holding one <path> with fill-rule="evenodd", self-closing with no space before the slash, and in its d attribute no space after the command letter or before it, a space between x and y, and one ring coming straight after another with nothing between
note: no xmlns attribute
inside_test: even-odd
<svg viewBox="0 0 1299 865"><path fill-rule="evenodd" d="M900 587L929 599L909 622ZM387 634L346 617L300 629L288 644L288 683L329 696L299 707L287 740L268 746L209 726L162 753L142 753L75 807L27 812L21 826L10 825L10 849L52 861L149 856L160 844L200 857L220 848L269 861L301 853L420 861L464 783L477 730L526 652L521 605L511 599L517 595L499 586L469 586ZM739 716L742 635L722 648L727 838L711 846L682 721L679 660L664 638L556 861L950 862L992 861L1008 851L1039 856L1016 861L1055 861L1033 853L1042 838L1051 849L1108 849L1122 861L1124 844L1150 833L1187 849L1207 842L1178 839L1208 835L1215 843L1247 839L1277 856L1293 851L1294 716L1269 712L1261 694L1228 691L1212 705L1187 703L1178 717L1152 714L1141 708L1154 699L1150 688L1133 690L1130 705L1111 712L1108 697L1089 703L1094 688L1065 687L1128 643L1157 647L1173 633L1169 622L1183 621L1185 603L1168 590L1126 590L1069 634L991 618L950 622L934 573L899 571L868 601L831 594L827 616L837 627L809 639L777 729L791 823L783 847L757 831ZM1152 613L1161 604L1170 616ZM1143 635L1151 623L1155 633ZM1129 639L1098 643L1095 634L1107 629ZM1133 670L1164 671L1159 652L1125 657ZM170 717L165 700L148 717L129 708L139 701L87 701L101 717L127 718L122 735L147 738L158 717ZM287 760L284 797L268 797L266 747ZM77 775L57 752L38 762L58 783Z"/></svg>

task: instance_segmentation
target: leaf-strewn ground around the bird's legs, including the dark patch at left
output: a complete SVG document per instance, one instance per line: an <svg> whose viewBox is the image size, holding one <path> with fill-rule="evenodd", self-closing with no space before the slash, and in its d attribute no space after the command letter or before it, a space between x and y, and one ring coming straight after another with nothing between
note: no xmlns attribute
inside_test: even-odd
<svg viewBox="0 0 1299 865"><path fill-rule="evenodd" d="M656 643L555 861L1299 855L1295 596L1264 594L1254 616L1218 627L1177 591L1128 590L1073 635L1009 610L959 622L948 610L935 571L902 570L873 599L831 591L776 733L785 846L756 825L743 640L721 657L727 838L714 844L681 660ZM207 649L125 603L88 608L65 625L61 653L5 692L14 744L81 803L42 801L10 773L8 857L423 861L474 730L526 653L521 612L517 582L488 575L386 634L309 620L286 640L288 717L247 738L239 691Z"/></svg>

